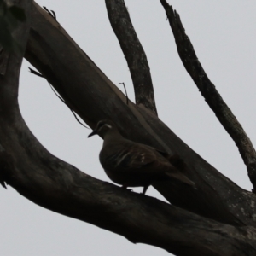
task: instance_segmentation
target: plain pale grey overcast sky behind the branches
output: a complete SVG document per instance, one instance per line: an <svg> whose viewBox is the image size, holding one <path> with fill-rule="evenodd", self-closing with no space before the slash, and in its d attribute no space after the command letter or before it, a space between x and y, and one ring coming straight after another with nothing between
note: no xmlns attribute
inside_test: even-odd
<svg viewBox="0 0 256 256"><path fill-rule="evenodd" d="M235 143L218 123L177 55L172 32L159 0L125 1L137 36L147 54L160 119L219 172L243 189L252 189ZM256 2L171 1L196 54L224 101L256 144ZM104 1L46 1L73 39L113 81L125 82L134 99L129 69L108 21ZM83 172L108 180L99 164L99 137L87 138L70 110L54 95L46 80L20 74L20 109L33 134L61 160ZM122 87L120 87L121 90ZM142 188L136 189L141 192ZM160 197L153 189L147 195ZM14 189L0 188L1 255L5 256L164 256L166 251L134 245L124 237L73 218L50 212L26 200Z"/></svg>

